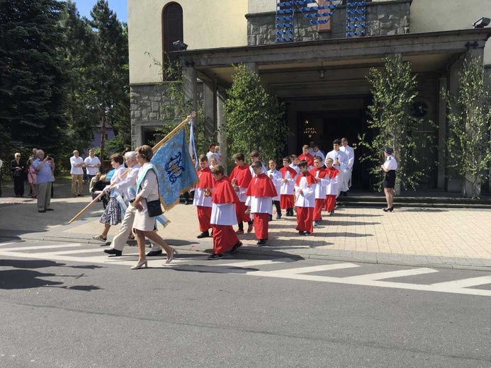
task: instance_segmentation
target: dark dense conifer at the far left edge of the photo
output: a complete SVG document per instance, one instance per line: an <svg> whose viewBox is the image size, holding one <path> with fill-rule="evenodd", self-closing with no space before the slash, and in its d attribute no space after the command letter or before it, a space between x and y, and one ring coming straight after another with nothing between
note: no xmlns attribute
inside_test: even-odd
<svg viewBox="0 0 491 368"><path fill-rule="evenodd" d="M14 147L61 151L64 110L64 35L56 0L0 0L0 139Z"/></svg>

